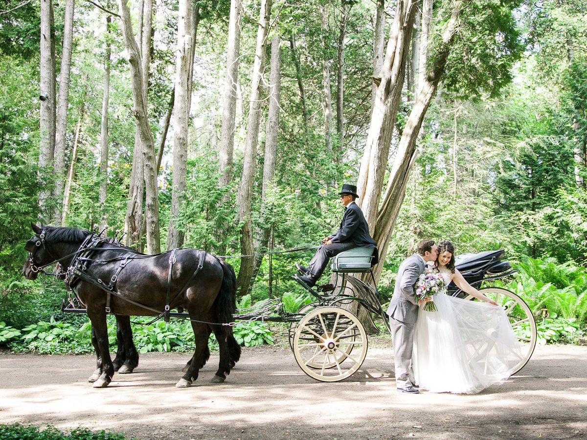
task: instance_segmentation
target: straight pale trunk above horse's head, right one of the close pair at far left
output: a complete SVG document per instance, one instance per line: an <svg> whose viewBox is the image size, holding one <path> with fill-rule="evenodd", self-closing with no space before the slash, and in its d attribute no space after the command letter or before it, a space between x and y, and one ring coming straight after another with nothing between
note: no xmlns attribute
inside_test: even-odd
<svg viewBox="0 0 587 440"><path fill-rule="evenodd" d="M53 175L55 187L53 197L55 208L53 218L59 226L63 207L63 183L65 180L65 134L68 126L69 104L69 75L72 66L73 41L73 10L74 0L65 1L65 16L63 23L63 49L61 54L61 71L59 75L59 105L57 110L55 130L55 159L53 160Z"/></svg>

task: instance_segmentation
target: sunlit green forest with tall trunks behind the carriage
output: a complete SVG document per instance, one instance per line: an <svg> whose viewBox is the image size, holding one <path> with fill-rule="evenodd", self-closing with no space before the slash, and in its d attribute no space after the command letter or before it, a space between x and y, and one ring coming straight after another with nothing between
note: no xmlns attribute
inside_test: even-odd
<svg viewBox="0 0 587 440"><path fill-rule="evenodd" d="M313 251L261 254L338 228L343 183L382 302L450 239L505 249L543 341L585 329L584 0L3 0L0 65L0 343L75 321L22 278L31 221L255 254L241 303L295 309Z"/></svg>

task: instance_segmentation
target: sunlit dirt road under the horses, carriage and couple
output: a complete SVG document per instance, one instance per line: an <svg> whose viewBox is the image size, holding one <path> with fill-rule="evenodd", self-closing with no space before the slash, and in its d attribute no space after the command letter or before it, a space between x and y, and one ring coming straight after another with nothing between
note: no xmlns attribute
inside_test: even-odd
<svg viewBox="0 0 587 440"><path fill-rule="evenodd" d="M137 439L579 439L587 437L587 347L537 347L507 383L477 395L397 392L393 350L370 347L340 383L306 376L289 348L245 348L210 384L212 355L186 389L185 354L144 354L95 390L93 356L0 354L0 422L126 432Z"/></svg>

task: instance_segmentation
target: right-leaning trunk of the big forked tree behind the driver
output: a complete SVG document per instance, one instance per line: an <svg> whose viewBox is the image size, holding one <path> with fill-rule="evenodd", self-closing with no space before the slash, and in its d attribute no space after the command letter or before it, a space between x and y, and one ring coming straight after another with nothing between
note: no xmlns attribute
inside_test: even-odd
<svg viewBox="0 0 587 440"><path fill-rule="evenodd" d="M397 148L396 160L390 172L382 207L376 219L377 226L374 228L375 233L373 234L373 239L377 242L380 255L386 255L387 253L387 246L389 245L393 227L402 207L406 185L410 178L410 171L416 161L416 140L418 133L424 116L426 116L426 111L428 110L432 96L444 73L444 65L450 54L451 43L456 32L457 20L462 7L463 2L455 2L451 18L441 37L442 40L437 45L436 53L434 53L434 62L427 72L424 83L420 86L420 93L407 119L406 127L403 130L402 138ZM382 266L375 266L373 272L376 280L381 275Z"/></svg>

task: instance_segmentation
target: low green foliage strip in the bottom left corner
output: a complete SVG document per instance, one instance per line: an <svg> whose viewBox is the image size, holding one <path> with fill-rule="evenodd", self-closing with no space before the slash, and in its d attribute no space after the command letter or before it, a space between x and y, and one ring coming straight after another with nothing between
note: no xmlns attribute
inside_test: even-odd
<svg viewBox="0 0 587 440"><path fill-rule="evenodd" d="M51 425L35 427L33 425L0 425L0 438L2 440L125 440L123 434L117 432L90 431L86 428L75 428L66 433L59 431Z"/></svg>

